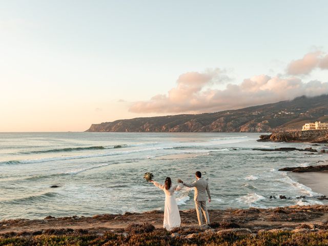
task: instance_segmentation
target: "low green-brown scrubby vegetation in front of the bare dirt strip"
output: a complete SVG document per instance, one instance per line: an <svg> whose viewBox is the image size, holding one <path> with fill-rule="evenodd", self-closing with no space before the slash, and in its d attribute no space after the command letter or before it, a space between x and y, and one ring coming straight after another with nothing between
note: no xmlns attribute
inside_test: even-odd
<svg viewBox="0 0 328 246"><path fill-rule="evenodd" d="M168 232L163 229L141 228L128 233L106 232L95 235L77 231L62 231L56 234L0 236L0 245L328 245L328 231L289 232L263 231L257 234L200 232L196 229L178 229ZM37 233L35 233L37 234Z"/></svg>

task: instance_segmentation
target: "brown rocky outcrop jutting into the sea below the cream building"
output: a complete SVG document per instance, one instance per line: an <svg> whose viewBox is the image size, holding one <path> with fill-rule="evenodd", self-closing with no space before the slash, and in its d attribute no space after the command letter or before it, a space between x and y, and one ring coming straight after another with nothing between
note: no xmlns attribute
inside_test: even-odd
<svg viewBox="0 0 328 246"><path fill-rule="evenodd" d="M328 142L328 130L276 132L270 135L261 135L258 141Z"/></svg>

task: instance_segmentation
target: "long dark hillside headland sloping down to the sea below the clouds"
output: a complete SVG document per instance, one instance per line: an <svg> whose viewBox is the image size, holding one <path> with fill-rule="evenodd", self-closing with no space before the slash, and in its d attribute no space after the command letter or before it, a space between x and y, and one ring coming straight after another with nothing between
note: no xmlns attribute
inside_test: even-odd
<svg viewBox="0 0 328 246"><path fill-rule="evenodd" d="M87 132L297 131L305 122L328 121L328 95L297 97L238 110L120 119L92 124Z"/></svg>

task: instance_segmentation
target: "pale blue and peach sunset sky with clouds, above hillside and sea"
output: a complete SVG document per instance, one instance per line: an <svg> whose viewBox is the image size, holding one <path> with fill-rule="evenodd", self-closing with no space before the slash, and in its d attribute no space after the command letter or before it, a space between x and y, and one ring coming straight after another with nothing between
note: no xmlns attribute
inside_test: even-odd
<svg viewBox="0 0 328 246"><path fill-rule="evenodd" d="M328 93L325 0L0 4L0 132Z"/></svg>

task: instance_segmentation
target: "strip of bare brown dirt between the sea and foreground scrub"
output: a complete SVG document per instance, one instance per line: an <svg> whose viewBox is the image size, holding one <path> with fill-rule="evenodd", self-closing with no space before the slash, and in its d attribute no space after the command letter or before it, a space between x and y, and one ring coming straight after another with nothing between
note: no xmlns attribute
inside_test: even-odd
<svg viewBox="0 0 328 246"><path fill-rule="evenodd" d="M211 226L217 223L234 223L252 232L281 228L300 227L328 229L328 206L291 206L275 209L228 209L210 210ZM181 227L197 226L195 210L180 211ZM155 228L162 228L163 213L125 213L123 215L95 215L93 217L62 217L45 219L10 219L0 221L0 234L33 233L45 230L87 230L89 233L106 231L120 232L131 223L148 222Z"/></svg>

